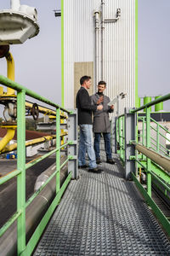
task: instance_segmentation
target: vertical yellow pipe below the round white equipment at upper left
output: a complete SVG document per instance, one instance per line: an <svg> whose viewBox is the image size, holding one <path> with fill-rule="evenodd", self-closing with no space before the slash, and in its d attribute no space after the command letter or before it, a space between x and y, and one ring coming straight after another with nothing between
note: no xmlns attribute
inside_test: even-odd
<svg viewBox="0 0 170 256"><path fill-rule="evenodd" d="M13 55L8 52L7 55L5 55L5 58L7 60L7 77L8 79L11 79L14 81L14 58ZM14 89L7 88L7 94L6 96L15 96Z"/></svg>

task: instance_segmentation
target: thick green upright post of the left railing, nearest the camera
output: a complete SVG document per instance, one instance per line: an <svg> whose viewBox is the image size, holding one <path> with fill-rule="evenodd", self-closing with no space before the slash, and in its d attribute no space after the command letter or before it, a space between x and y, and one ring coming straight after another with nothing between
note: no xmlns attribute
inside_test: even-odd
<svg viewBox="0 0 170 256"><path fill-rule="evenodd" d="M26 91L17 93L17 222L18 255L26 248Z"/></svg>

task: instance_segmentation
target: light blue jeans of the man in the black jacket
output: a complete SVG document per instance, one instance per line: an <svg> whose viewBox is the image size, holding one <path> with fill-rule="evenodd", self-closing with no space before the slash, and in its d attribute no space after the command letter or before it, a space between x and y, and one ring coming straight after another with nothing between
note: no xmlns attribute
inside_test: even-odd
<svg viewBox="0 0 170 256"><path fill-rule="evenodd" d="M88 153L88 166L90 169L96 168L96 159L94 153L94 139L92 125L79 125L80 142L78 150L78 165L86 165L86 152Z"/></svg>

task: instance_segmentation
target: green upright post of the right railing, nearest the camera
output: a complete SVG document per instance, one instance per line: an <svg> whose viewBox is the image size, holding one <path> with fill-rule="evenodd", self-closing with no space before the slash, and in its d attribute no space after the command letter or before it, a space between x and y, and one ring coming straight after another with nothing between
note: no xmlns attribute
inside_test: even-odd
<svg viewBox="0 0 170 256"><path fill-rule="evenodd" d="M150 108L145 108L146 110L146 147L150 148ZM150 174L150 159L146 158L147 162L147 192L151 197L151 174Z"/></svg>

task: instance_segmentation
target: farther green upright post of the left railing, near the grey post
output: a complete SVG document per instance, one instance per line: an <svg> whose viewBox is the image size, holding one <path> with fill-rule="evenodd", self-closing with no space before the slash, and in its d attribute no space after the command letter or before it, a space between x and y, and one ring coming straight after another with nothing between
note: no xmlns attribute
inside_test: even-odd
<svg viewBox="0 0 170 256"><path fill-rule="evenodd" d="M56 148L59 148L60 146L60 114L59 114L59 108L56 109ZM59 192L60 189L60 149L56 152L56 193Z"/></svg>

